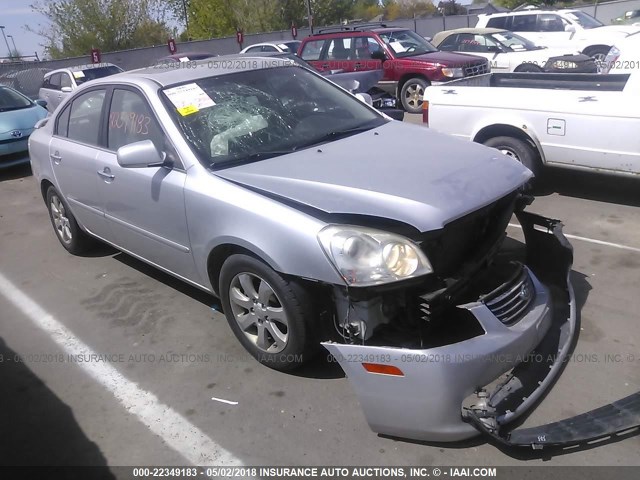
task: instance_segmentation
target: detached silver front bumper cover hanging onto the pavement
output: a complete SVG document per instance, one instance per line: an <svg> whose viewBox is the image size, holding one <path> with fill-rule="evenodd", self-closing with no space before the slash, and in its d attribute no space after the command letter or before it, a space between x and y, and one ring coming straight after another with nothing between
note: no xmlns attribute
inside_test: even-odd
<svg viewBox="0 0 640 480"><path fill-rule="evenodd" d="M485 333L458 343L420 350L323 343L349 378L373 431L434 442L464 440L481 432L504 444L540 448L640 425L638 393L563 422L506 432L506 425L532 408L560 375L577 336L569 279L573 250L562 224L527 212L517 215L536 297L513 326L474 302L459 308L471 312ZM363 363L384 363L402 375L371 373ZM500 383L484 391L498 378ZM463 407L478 391L483 398L479 395L477 404Z"/></svg>

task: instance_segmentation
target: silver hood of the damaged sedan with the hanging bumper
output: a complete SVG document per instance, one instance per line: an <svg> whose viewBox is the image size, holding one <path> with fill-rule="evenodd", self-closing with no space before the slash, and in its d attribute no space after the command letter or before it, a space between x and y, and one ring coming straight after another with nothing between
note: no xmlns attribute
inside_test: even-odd
<svg viewBox="0 0 640 480"><path fill-rule="evenodd" d="M389 122L215 175L326 213L392 219L425 232L514 191L531 172L482 145Z"/></svg>

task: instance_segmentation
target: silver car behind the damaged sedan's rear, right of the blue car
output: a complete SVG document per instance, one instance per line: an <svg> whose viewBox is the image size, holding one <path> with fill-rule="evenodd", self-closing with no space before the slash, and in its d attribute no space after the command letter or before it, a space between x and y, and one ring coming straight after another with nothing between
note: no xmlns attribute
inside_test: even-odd
<svg viewBox="0 0 640 480"><path fill-rule="evenodd" d="M79 65L53 70L44 75L38 97L45 100L47 109L53 112L69 93L83 83L120 72L122 69L112 63Z"/></svg>

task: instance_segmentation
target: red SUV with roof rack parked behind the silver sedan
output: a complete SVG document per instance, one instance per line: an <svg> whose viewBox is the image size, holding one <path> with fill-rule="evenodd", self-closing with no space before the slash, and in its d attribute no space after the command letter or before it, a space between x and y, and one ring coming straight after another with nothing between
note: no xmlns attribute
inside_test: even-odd
<svg viewBox="0 0 640 480"><path fill-rule="evenodd" d="M298 55L320 71L384 69L378 86L409 113L421 112L427 86L490 71L486 58L441 52L412 30L384 24L322 29L302 41Z"/></svg>

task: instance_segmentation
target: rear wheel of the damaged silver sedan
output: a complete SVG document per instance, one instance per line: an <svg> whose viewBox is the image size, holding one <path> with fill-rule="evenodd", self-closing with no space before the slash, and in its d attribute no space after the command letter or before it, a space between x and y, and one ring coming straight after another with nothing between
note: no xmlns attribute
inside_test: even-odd
<svg viewBox="0 0 640 480"><path fill-rule="evenodd" d="M51 225L53 225L53 230L62 246L74 255L91 249L94 240L82 231L62 195L53 186L50 186L47 189L46 198Z"/></svg>

